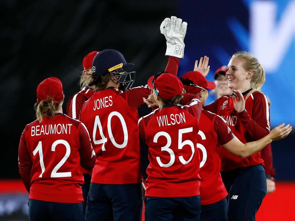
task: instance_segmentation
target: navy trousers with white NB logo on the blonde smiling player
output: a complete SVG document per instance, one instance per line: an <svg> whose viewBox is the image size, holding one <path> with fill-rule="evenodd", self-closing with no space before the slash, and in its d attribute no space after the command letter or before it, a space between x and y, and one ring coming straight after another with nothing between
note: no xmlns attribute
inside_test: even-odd
<svg viewBox="0 0 295 221"><path fill-rule="evenodd" d="M228 192L227 220L256 220L266 195L266 177L262 165L221 172Z"/></svg>

